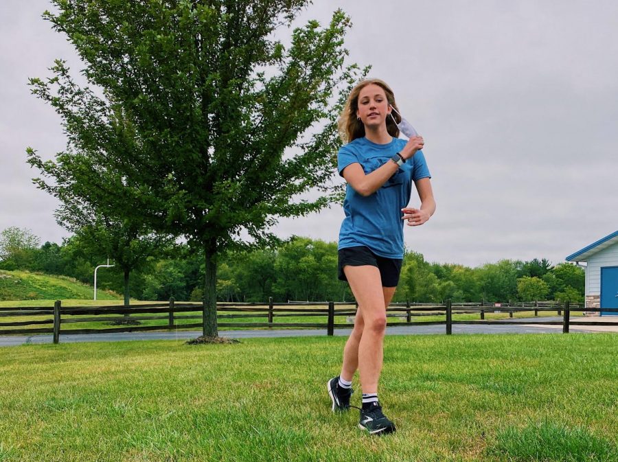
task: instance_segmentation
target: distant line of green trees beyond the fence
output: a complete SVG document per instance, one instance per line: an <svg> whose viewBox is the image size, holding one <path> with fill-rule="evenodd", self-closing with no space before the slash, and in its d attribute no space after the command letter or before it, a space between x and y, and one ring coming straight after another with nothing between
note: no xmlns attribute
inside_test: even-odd
<svg viewBox="0 0 618 462"><path fill-rule="evenodd" d="M92 284L95 266L106 261L89 240L73 236L61 245L40 240L25 229L0 234L0 269L65 275ZM200 301L203 298L203 255L174 244L145 259L133 275L130 295L139 300ZM98 273L98 286L122 293L122 268ZM295 237L280 246L222 255L217 273L219 301L351 301L347 283L337 279L337 244ZM534 301L582 303L584 270L547 259L527 262L503 259L476 268L426 262L407 251L393 301Z"/></svg>

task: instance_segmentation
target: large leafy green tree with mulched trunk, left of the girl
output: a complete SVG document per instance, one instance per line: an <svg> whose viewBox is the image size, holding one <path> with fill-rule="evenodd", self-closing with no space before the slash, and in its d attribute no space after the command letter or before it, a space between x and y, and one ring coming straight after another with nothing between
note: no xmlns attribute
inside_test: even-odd
<svg viewBox="0 0 618 462"><path fill-rule="evenodd" d="M363 74L345 65L350 21L342 11L325 27L309 21L286 47L277 29L306 0L52 3L58 13L44 17L76 47L88 82L60 60L54 77L31 80L65 120L69 149L56 161L76 165L84 200L104 192L93 199L102 215L139 217L203 249L203 333L216 336L217 256L247 238L276 242L277 217L339 196L328 184L334 95ZM110 181L93 183L93 172Z"/></svg>

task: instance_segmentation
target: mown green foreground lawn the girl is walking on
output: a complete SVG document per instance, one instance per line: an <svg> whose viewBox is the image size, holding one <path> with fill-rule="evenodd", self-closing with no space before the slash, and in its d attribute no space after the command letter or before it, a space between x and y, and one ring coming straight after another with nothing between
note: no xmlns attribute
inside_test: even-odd
<svg viewBox="0 0 618 462"><path fill-rule="evenodd" d="M341 337L4 347L0 461L618 461L617 340L387 337L386 437L330 411Z"/></svg>

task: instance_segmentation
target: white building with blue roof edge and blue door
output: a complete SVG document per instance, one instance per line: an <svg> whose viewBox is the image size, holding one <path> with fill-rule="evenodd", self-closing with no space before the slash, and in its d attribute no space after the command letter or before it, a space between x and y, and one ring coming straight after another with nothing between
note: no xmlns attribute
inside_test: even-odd
<svg viewBox="0 0 618 462"><path fill-rule="evenodd" d="M586 262L586 308L600 308L601 316L618 315L603 311L618 308L618 231L572 253L567 262Z"/></svg>

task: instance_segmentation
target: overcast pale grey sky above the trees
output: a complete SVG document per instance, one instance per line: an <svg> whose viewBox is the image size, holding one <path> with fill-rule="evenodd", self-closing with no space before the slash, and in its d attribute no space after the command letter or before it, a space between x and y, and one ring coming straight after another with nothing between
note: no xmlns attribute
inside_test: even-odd
<svg viewBox="0 0 618 462"><path fill-rule="evenodd" d="M405 227L433 262L554 263L618 229L618 3L316 0L297 23L352 17L350 60L373 65L425 139L435 216ZM54 58L80 62L41 13L45 0L0 2L0 230L60 242L56 200L32 185L32 146L65 148L60 119L30 95ZM413 196L411 205L418 205ZM277 234L336 240L343 209L281 220Z"/></svg>

